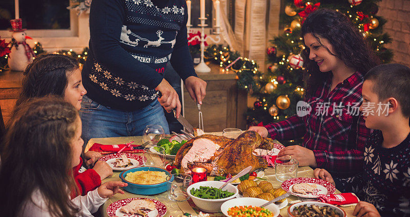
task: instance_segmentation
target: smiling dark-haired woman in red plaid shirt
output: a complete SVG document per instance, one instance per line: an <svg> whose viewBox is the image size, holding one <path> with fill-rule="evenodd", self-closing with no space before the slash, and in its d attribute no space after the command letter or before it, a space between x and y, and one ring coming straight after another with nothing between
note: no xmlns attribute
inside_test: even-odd
<svg viewBox="0 0 410 217"><path fill-rule="evenodd" d="M378 61L359 30L334 10L310 14L302 36L306 47L302 52L307 83L304 101L312 111L250 130L277 140L303 136L301 145L285 147L278 157L291 156L299 166L325 168L347 182L346 178L362 169L364 144L372 132L359 106L363 76Z"/></svg>

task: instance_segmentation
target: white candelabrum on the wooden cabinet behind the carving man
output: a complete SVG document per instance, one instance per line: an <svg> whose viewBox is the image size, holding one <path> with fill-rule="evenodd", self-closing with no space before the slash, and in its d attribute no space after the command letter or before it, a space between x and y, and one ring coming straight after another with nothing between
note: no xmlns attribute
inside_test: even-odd
<svg viewBox="0 0 410 217"><path fill-rule="evenodd" d="M205 63L205 61L203 61L203 57L204 54L203 52L205 51L205 27L208 26L208 24L205 24L205 20L207 20L208 18L206 17L199 17L198 18L201 22L201 24L199 24L198 26L201 27L201 37L199 36L195 36L193 38L191 38L188 42L191 42L195 39L198 39L199 41L201 41L201 61L199 62L198 66L195 67L195 72L200 72L200 73L209 73L211 72L211 68L208 67L208 65ZM192 25L187 25L187 29L190 28ZM207 38L211 39L215 44L218 44L221 41L221 37L219 36L219 26L216 26L216 31L215 34L216 39L214 39L213 37L211 37L210 35L207 36Z"/></svg>

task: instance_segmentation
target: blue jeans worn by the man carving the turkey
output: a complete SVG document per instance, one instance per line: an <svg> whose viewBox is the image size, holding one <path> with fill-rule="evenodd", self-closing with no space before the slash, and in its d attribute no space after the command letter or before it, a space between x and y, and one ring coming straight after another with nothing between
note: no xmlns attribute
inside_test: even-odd
<svg viewBox="0 0 410 217"><path fill-rule="evenodd" d="M166 134L170 133L158 100L140 110L126 112L98 104L85 95L79 113L85 145L91 138L142 136L149 124L158 124Z"/></svg>

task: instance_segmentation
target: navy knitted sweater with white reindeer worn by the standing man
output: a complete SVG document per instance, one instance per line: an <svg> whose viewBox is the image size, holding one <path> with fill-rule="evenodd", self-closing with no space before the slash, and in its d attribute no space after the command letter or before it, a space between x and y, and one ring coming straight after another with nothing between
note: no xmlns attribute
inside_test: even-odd
<svg viewBox="0 0 410 217"><path fill-rule="evenodd" d="M98 0L90 9L90 51L82 76L87 96L133 111L155 100L168 61L196 76L187 44L184 0Z"/></svg>

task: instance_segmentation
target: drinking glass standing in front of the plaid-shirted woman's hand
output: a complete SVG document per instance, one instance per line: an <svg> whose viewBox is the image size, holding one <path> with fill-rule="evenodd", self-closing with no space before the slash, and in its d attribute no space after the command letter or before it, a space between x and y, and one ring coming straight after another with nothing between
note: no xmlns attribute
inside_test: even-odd
<svg viewBox="0 0 410 217"><path fill-rule="evenodd" d="M299 162L289 157L275 159L276 180L284 182L288 179L296 178L298 174Z"/></svg>

